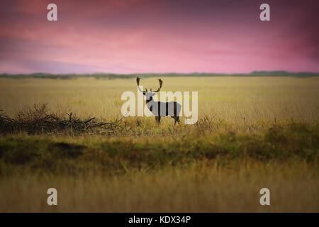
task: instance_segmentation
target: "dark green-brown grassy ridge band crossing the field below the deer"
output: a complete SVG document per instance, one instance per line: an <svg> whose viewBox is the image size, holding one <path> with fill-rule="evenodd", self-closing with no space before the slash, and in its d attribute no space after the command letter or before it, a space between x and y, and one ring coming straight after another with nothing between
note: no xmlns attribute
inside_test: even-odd
<svg viewBox="0 0 319 227"><path fill-rule="evenodd" d="M15 172L118 175L187 166L206 159L222 167L229 160L296 160L318 167L319 125L295 123L263 133L189 133L157 139L7 135L0 138L0 148L1 176Z"/></svg>

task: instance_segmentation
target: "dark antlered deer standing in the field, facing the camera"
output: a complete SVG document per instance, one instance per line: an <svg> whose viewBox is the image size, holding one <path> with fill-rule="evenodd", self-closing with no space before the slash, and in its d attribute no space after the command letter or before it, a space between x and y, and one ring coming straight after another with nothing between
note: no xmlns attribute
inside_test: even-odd
<svg viewBox="0 0 319 227"><path fill-rule="evenodd" d="M153 96L155 96L155 94L160 91L163 85L162 79L158 79L158 81L159 81L159 89L157 89L155 92L152 92L152 89L150 89L150 92L147 92L147 89L145 89L145 91L142 91L140 89L140 77L136 77L138 90L142 92L143 95L146 96L146 106L155 116L155 121L157 121L157 123L159 124L161 121L161 117L170 116L174 118L174 124L176 124L177 122L179 123L180 122L179 114L181 112L181 104L177 103L176 101L169 101L169 102L154 101Z"/></svg>

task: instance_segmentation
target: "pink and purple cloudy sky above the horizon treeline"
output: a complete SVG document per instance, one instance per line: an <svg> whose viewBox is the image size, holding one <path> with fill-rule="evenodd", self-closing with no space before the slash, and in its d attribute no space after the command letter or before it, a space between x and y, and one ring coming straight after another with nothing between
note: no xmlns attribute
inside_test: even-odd
<svg viewBox="0 0 319 227"><path fill-rule="evenodd" d="M259 20L262 3L271 21ZM318 72L317 10L308 0L4 0L0 73Z"/></svg>

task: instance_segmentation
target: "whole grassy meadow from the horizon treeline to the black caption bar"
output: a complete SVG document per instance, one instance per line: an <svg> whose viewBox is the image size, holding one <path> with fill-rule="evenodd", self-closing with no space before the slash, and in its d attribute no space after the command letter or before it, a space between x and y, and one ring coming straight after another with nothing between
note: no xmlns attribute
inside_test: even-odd
<svg viewBox="0 0 319 227"><path fill-rule="evenodd" d="M319 77L164 77L198 92L198 122L121 116L135 79L0 78L0 109L125 125L0 134L0 212L318 212ZM157 89L155 77L142 78ZM47 205L55 187L58 206ZM259 190L270 190L261 206Z"/></svg>

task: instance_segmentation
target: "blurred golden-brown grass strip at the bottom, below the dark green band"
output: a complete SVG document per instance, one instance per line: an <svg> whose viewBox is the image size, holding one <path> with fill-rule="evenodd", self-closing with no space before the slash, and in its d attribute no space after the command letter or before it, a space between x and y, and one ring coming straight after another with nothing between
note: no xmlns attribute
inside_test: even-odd
<svg viewBox="0 0 319 227"><path fill-rule="evenodd" d="M230 163L231 165L231 163ZM236 165L236 164L235 164ZM119 177L10 177L0 179L1 212L318 212L318 172L305 163L239 170L203 160L187 168ZM47 189L57 206L47 206ZM270 190L270 206L259 190Z"/></svg>

